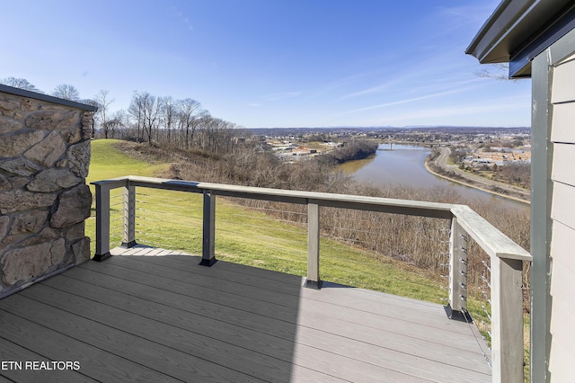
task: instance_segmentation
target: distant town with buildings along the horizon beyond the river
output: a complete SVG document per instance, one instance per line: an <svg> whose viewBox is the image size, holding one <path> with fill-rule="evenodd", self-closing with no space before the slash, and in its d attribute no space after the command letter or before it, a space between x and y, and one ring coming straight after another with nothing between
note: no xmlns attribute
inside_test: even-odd
<svg viewBox="0 0 575 383"><path fill-rule="evenodd" d="M461 167L530 164L529 128L298 128L249 129L281 158L294 161L318 156L355 139L380 144L449 147L451 158Z"/></svg>

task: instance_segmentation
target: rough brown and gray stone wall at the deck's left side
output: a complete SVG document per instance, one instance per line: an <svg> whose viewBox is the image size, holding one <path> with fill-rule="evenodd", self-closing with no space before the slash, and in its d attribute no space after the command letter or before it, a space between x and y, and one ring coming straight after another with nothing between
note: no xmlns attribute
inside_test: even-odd
<svg viewBox="0 0 575 383"><path fill-rule="evenodd" d="M0 298L90 258L92 112L38 95L0 89Z"/></svg>

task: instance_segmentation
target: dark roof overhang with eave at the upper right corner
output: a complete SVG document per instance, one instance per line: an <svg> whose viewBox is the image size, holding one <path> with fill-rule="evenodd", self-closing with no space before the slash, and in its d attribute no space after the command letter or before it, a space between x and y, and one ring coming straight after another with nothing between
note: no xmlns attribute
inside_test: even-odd
<svg viewBox="0 0 575 383"><path fill-rule="evenodd" d="M571 0L503 0L465 53L482 64L509 63L509 77L528 77L531 60L573 28Z"/></svg>

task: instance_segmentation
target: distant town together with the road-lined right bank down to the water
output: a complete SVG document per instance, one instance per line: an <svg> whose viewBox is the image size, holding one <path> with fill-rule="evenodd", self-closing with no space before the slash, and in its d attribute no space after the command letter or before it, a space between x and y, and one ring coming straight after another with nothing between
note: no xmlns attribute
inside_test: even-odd
<svg viewBox="0 0 575 383"><path fill-rule="evenodd" d="M529 128L327 128L249 129L289 163L322 156L352 143L372 142L371 153L394 146L431 148L429 173L483 191L528 202L531 183ZM365 146L364 146L365 147ZM335 153L335 152L334 152ZM350 156L350 159L355 159Z"/></svg>

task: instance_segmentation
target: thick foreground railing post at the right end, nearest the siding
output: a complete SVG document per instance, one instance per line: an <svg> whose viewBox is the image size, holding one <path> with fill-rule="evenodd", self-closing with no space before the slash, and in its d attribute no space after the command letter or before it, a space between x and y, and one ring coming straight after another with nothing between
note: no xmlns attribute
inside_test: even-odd
<svg viewBox="0 0 575 383"><path fill-rule="evenodd" d="M491 358L494 382L523 382L523 262L491 259Z"/></svg>

